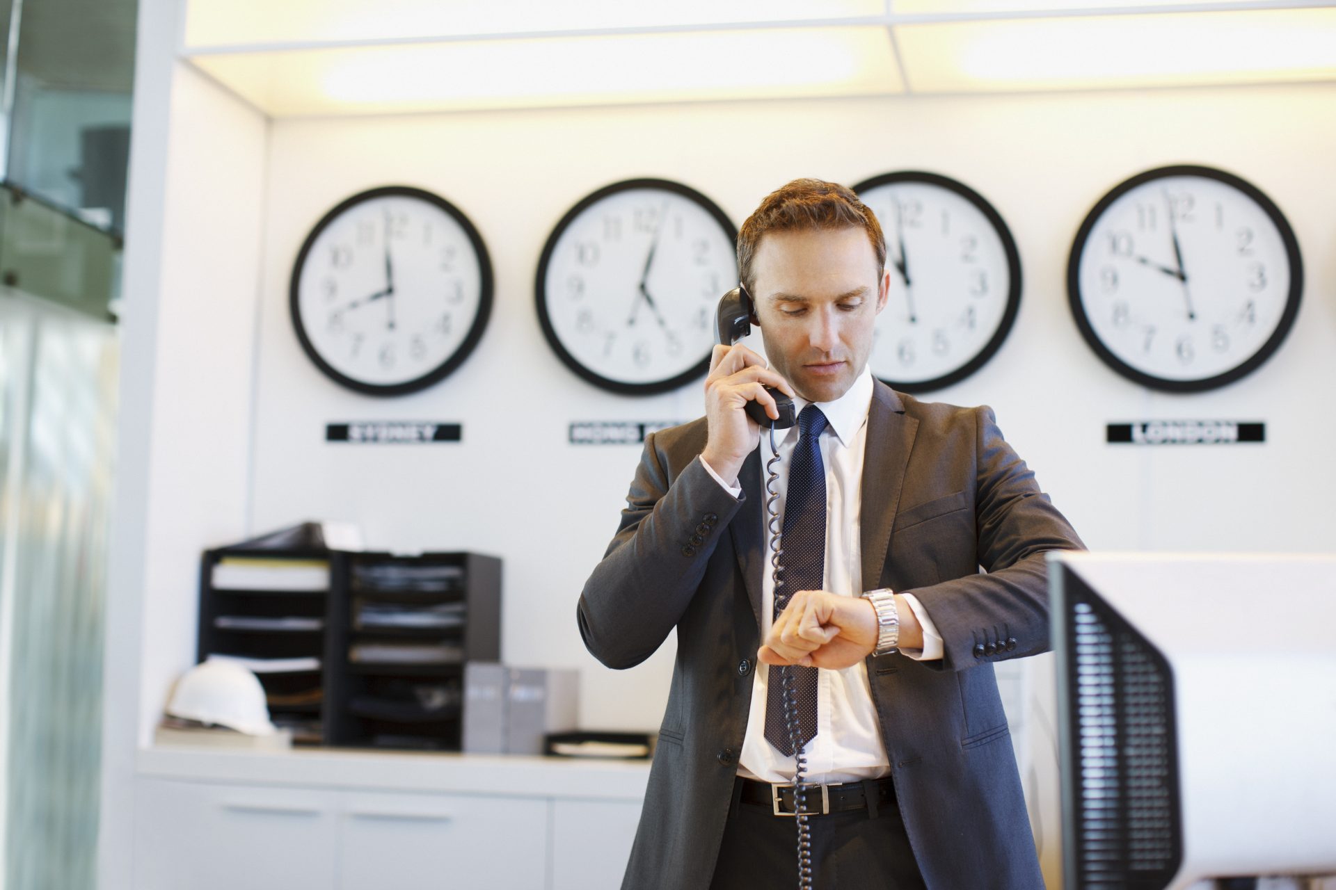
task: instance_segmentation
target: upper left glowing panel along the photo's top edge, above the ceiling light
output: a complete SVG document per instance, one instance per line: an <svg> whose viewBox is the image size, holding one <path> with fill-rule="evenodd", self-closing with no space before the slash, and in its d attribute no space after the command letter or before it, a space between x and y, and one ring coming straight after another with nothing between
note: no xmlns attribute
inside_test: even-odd
<svg viewBox="0 0 1336 890"><path fill-rule="evenodd" d="M424 40L457 35L832 21L883 0L188 0L184 45Z"/></svg>

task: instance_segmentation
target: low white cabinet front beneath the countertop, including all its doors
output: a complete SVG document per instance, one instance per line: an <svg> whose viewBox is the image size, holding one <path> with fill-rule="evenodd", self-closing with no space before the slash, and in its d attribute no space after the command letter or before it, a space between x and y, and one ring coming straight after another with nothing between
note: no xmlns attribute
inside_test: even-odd
<svg viewBox="0 0 1336 890"><path fill-rule="evenodd" d="M139 777L136 890L617 890L640 803Z"/></svg>

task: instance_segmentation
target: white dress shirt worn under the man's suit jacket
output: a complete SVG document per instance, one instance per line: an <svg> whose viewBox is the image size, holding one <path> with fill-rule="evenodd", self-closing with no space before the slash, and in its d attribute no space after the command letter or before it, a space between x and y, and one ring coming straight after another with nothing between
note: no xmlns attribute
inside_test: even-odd
<svg viewBox="0 0 1336 890"><path fill-rule="evenodd" d="M863 455L867 447L867 411L872 400L872 372L863 372L839 399L818 402L816 406L830 422L820 436L822 463L826 468L826 570L823 587L834 594L859 596L863 592L862 551L859 546L859 510L862 507ZM807 402L795 398L799 411ZM775 490L779 500L775 503L780 515L784 511L784 498L788 491L788 464L798 444L798 426L776 431L775 443L779 450L779 471ZM770 431L760 435L762 487L768 475L766 462L774 454L770 448ZM729 486L713 467L701 460L711 476L728 492L737 498L740 486ZM770 524L767 523L766 498L752 507L762 511L763 546L770 548ZM770 572L770 559L766 562L762 580L762 639L770 632L775 611L775 583ZM900 652L918 660L942 658L942 636L927 616L927 611L914 595L906 595L919 624L923 626L923 648ZM778 669L776 669L778 670ZM766 701L770 681L770 666L756 664L752 683L751 711L747 715L747 735L737 763L737 774L763 782L791 782L794 778L794 758L780 754L766 741ZM820 670L818 673L816 737L807 743L807 771L812 782L856 782L875 779L890 774L890 759L872 707L872 694L867 681L867 663L860 660L844 670Z"/></svg>

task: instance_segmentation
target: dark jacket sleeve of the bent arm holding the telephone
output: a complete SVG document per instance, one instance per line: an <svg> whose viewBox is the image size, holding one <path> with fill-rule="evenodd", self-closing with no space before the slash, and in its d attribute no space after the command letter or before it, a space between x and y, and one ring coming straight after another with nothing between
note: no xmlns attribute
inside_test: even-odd
<svg viewBox="0 0 1336 890"><path fill-rule="evenodd" d="M585 647L608 667L635 667L668 638L719 538L745 503L699 456L673 478L656 435L645 436L617 534L585 582L576 612Z"/></svg>

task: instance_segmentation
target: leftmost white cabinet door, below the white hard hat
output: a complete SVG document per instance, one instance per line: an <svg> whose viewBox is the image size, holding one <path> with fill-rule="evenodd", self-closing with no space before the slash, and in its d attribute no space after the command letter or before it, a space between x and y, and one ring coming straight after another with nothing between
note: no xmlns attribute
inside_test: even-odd
<svg viewBox="0 0 1336 890"><path fill-rule="evenodd" d="M337 794L140 779L139 890L330 890Z"/></svg>

